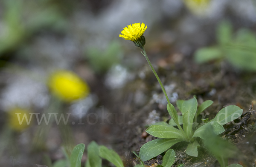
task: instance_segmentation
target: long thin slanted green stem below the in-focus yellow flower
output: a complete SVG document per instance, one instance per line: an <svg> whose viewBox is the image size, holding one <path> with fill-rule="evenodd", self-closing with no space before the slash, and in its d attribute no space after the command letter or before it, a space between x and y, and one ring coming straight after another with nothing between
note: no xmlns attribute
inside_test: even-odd
<svg viewBox="0 0 256 167"><path fill-rule="evenodd" d="M145 49L144 49L143 46L141 47L141 49L143 50L143 53L142 53L142 52L141 52L141 53L142 53L142 54L144 55L144 57L146 58L146 60L147 60L147 62L148 62L148 64L149 64L151 70L153 71L154 75L155 75L156 78L157 78L157 81L159 82L159 84L160 84L160 86L161 86L161 88L162 88L162 91L163 91L164 95L166 96L166 100L167 100L168 105L169 105L169 107L170 107L170 109L171 109L171 112L172 112L172 118L174 119L175 123L177 124L178 128L179 128L180 131L183 133L183 135L186 136L185 133L184 133L184 131L183 131L183 129L182 129L181 126L180 126L180 123L178 122L178 118L176 117L176 114L175 114L174 111L172 110L172 105L171 105L170 100L169 100L169 98L168 98L168 96L167 96L166 90L165 90L165 88L163 87L163 84L162 84L162 82L161 82L159 76L157 75L157 72L154 70L154 67L151 65L151 62L149 61L148 56L147 56L147 53L146 53L146 51L145 51Z"/></svg>

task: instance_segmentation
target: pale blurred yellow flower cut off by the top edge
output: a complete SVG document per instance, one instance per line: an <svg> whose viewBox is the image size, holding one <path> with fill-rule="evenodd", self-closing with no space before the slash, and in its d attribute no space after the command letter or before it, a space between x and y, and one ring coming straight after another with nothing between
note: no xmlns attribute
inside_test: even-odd
<svg viewBox="0 0 256 167"><path fill-rule="evenodd" d="M210 0L184 0L189 10L196 15L203 15L209 7Z"/></svg>

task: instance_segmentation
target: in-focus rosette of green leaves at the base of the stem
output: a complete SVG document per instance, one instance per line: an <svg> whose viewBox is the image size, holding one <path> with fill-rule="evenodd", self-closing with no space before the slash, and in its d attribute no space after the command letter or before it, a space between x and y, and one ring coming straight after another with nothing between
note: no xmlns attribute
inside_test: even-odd
<svg viewBox="0 0 256 167"><path fill-rule="evenodd" d="M183 124L184 134L181 130L176 128L177 124L175 125L175 122L171 121L172 119L169 121L169 124L167 122L157 122L156 124L151 125L146 132L160 139L152 140L144 144L140 148L140 159L147 161L165 152L172 147L172 145L183 141L188 144L186 154L197 157L198 147L201 147L201 141L204 142L209 140L209 136L211 136L210 134L217 136L223 133L225 131L223 125L239 118L243 112L238 106L229 105L221 109L214 119L209 122L207 121L208 123L206 124L203 122L199 125L196 121L198 115L210 105L212 105L212 101L207 100L198 107L198 102L195 96L189 100L178 100L177 107L182 114L182 116L180 116L181 120L179 120L179 124ZM168 106L167 109L168 111L170 110ZM175 113L177 113L176 110ZM172 116L171 112L169 112L169 114Z"/></svg>

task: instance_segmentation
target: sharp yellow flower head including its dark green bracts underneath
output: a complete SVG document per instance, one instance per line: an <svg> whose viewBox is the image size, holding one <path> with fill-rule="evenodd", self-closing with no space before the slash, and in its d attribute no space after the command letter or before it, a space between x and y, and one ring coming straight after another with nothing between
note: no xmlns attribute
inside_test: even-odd
<svg viewBox="0 0 256 167"><path fill-rule="evenodd" d="M145 30L148 26L144 23L134 23L125 27L119 37L122 37L124 40L131 40L138 47L142 47L145 45L145 37L143 36Z"/></svg>

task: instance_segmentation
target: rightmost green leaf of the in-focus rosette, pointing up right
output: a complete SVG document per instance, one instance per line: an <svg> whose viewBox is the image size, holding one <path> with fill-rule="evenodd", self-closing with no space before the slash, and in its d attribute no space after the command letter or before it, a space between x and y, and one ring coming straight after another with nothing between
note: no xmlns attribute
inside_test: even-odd
<svg viewBox="0 0 256 167"><path fill-rule="evenodd" d="M243 110L239 108L236 105L229 105L225 108L222 108L217 115L215 116L214 119L211 121L217 121L221 125L225 125L230 121L233 121L237 119L241 114L243 113Z"/></svg>

